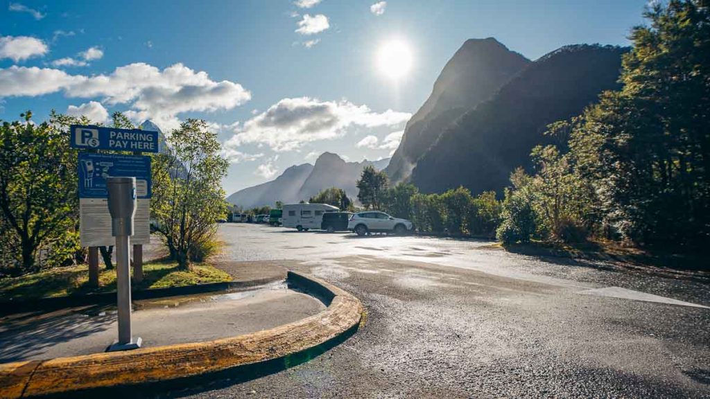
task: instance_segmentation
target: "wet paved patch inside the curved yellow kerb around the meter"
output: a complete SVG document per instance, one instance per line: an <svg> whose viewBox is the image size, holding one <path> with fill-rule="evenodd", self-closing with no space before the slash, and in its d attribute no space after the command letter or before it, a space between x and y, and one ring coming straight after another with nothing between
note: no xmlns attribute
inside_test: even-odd
<svg viewBox="0 0 710 399"><path fill-rule="evenodd" d="M143 347L211 341L315 315L322 302L285 283L249 290L133 302ZM117 338L115 306L84 306L0 318L0 363L103 352Z"/></svg>

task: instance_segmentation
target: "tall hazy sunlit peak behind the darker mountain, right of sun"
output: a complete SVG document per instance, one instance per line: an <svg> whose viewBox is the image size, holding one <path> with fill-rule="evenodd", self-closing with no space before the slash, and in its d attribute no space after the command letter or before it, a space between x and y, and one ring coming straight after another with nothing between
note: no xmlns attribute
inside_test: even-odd
<svg viewBox="0 0 710 399"><path fill-rule="evenodd" d="M444 66L430 97L408 121L385 170L390 180L407 179L417 159L451 121L490 98L529 63L494 38L466 40Z"/></svg>

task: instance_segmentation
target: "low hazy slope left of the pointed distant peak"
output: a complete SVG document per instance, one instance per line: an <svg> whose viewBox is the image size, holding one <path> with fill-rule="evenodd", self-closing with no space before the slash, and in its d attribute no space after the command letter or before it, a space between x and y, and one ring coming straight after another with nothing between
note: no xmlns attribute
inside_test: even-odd
<svg viewBox="0 0 710 399"><path fill-rule="evenodd" d="M293 165L274 180L239 190L226 200L244 209L266 205L273 207L276 201L283 201L286 204L298 202L300 201L298 190L312 170L313 165L310 163Z"/></svg>

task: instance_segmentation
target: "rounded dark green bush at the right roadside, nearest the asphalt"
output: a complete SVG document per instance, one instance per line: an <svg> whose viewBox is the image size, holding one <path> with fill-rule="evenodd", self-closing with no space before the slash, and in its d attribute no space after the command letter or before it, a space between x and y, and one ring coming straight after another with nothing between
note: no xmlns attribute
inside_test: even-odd
<svg viewBox="0 0 710 399"><path fill-rule="evenodd" d="M527 243L537 229L537 215L532 208L532 196L527 188L515 192L506 191L503 201L503 222L496 230L496 237L503 244Z"/></svg>

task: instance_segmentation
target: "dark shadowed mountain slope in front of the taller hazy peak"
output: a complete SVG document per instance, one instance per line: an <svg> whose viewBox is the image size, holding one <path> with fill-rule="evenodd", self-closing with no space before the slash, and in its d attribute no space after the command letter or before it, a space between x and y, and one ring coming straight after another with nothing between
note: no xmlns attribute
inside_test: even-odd
<svg viewBox="0 0 710 399"><path fill-rule="evenodd" d="M532 62L450 124L419 158L411 181L423 192L464 185L474 194L500 195L514 168L532 168L532 147L554 140L542 135L547 124L580 114L602 91L619 87L626 51L571 45Z"/></svg>

